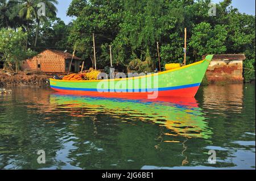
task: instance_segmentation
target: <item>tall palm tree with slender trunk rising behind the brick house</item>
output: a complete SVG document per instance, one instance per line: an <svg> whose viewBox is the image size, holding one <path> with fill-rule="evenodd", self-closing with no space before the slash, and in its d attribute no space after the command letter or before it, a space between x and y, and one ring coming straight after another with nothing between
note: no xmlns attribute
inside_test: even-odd
<svg viewBox="0 0 256 181"><path fill-rule="evenodd" d="M46 16L39 16L39 3L43 2L46 5ZM49 17L56 16L57 8L55 5L58 4L57 0L19 0L19 16L27 20L27 31L28 31L28 22L29 20L35 20L36 26L36 37L35 44L38 40L38 33L40 22L46 20Z"/></svg>

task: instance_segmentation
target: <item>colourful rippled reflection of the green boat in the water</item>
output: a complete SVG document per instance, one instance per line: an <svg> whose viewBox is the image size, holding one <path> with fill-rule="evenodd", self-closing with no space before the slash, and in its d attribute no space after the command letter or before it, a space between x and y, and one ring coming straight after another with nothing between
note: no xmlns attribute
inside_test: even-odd
<svg viewBox="0 0 256 181"><path fill-rule="evenodd" d="M208 139L211 134L195 98L131 100L54 93L51 94L50 102L58 108L64 108L74 117L92 117L104 113L130 124L134 124L134 121L157 124L167 128L164 131L167 136Z"/></svg>

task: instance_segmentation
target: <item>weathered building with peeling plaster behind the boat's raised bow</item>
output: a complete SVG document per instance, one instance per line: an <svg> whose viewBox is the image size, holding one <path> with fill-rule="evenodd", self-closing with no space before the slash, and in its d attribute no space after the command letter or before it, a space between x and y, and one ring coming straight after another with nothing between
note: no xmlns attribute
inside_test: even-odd
<svg viewBox="0 0 256 181"><path fill-rule="evenodd" d="M214 54L206 75L209 82L243 82L245 54Z"/></svg>

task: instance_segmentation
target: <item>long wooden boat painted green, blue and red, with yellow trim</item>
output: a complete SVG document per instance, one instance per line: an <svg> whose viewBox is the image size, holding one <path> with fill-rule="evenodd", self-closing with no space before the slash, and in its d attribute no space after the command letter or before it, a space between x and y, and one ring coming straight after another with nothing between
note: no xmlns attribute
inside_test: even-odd
<svg viewBox="0 0 256 181"><path fill-rule="evenodd" d="M204 60L172 70L139 77L95 81L50 79L53 90L69 94L109 98L194 97L213 55Z"/></svg>

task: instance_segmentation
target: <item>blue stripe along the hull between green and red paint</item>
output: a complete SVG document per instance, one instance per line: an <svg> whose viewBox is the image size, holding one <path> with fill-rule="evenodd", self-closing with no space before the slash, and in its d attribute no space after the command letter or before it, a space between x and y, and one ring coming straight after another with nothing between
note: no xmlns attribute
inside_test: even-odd
<svg viewBox="0 0 256 181"><path fill-rule="evenodd" d="M163 87L159 89L116 89L116 90L108 90L108 89L86 89L86 88L71 88L71 87L57 87L57 86L52 86L54 89L62 89L62 90L74 90L74 91L101 91L101 92L145 92L146 90L148 92L151 91L167 91L167 90L177 90L177 89L184 89L184 88L189 88L189 87L197 87L200 86L200 83L193 83L189 85L184 85L184 86L174 86L174 87Z"/></svg>

